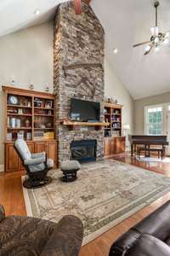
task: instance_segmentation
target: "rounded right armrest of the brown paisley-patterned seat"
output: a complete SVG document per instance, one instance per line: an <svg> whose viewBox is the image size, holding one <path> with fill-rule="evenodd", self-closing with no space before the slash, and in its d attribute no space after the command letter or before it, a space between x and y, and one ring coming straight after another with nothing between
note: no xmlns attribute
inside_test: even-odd
<svg viewBox="0 0 170 256"><path fill-rule="evenodd" d="M82 230L79 218L65 216L56 224L41 256L77 256L82 245Z"/></svg>

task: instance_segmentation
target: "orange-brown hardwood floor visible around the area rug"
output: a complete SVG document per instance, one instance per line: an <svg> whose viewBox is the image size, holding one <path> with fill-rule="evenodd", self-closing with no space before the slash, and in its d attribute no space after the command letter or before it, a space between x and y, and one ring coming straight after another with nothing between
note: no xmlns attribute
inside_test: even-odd
<svg viewBox="0 0 170 256"><path fill-rule="evenodd" d="M131 159L128 154L116 155L114 159L170 177L170 164L139 162L135 160L135 158ZM23 172L0 175L0 204L5 207L7 215L26 215L26 207L21 187L21 175L23 175ZM118 236L121 236L123 232L131 228L134 224L137 224L142 218L156 210L156 208L160 207L168 200L170 200L170 193L162 196L159 200L151 203L150 206L144 207L144 209L133 214L130 218L122 221L121 224L117 224L102 236L99 236L94 241L83 246L79 256L107 256L112 242L115 241Z"/></svg>

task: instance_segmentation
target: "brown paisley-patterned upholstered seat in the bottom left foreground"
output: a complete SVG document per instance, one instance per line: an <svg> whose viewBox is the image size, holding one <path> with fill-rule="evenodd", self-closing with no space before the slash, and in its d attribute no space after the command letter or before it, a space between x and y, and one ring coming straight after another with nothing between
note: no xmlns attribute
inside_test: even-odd
<svg viewBox="0 0 170 256"><path fill-rule="evenodd" d="M82 221L65 216L58 224L39 218L9 216L0 206L1 256L77 256Z"/></svg>

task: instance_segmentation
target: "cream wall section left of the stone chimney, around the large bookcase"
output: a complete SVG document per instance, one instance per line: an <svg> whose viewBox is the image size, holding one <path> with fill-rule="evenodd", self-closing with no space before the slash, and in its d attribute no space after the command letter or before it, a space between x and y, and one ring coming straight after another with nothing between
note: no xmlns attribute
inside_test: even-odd
<svg viewBox="0 0 170 256"><path fill-rule="evenodd" d="M14 32L0 38L0 84L11 84L14 75L15 86L45 90L46 84L53 92L53 23ZM3 119L4 105L0 87L0 169L3 165Z"/></svg>

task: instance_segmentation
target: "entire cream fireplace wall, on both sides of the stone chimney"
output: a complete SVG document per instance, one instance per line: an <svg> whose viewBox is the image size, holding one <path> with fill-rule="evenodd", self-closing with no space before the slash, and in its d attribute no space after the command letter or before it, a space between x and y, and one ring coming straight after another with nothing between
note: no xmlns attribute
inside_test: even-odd
<svg viewBox="0 0 170 256"><path fill-rule="evenodd" d="M0 38L0 84L44 91L46 84L53 92L53 22L14 32ZM105 60L105 96L118 99L123 105L123 124L133 128L133 99L124 88L110 64ZM0 169L3 165L3 92L0 87Z"/></svg>

